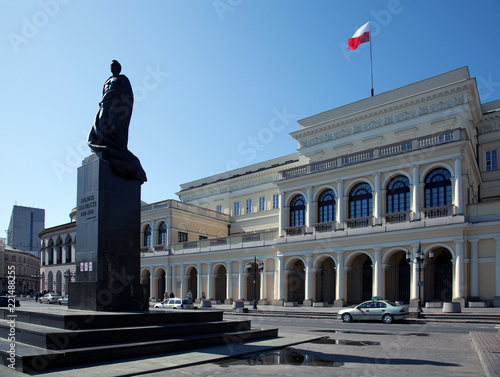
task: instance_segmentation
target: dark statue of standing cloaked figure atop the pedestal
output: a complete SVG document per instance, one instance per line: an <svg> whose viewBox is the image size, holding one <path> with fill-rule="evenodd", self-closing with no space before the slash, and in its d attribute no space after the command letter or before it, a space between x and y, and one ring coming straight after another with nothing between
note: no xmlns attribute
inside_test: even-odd
<svg viewBox="0 0 500 377"><path fill-rule="evenodd" d="M127 76L120 75L121 69L116 60L111 62L113 75L104 83L99 111L87 144L95 153L102 153L102 158L109 161L117 176L144 183L146 173L139 159L127 148L134 93Z"/></svg>

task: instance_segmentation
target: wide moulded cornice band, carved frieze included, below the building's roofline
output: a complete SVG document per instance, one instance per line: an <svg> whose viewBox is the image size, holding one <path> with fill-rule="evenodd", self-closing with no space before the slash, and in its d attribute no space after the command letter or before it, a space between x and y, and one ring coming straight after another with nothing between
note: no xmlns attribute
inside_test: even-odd
<svg viewBox="0 0 500 377"><path fill-rule="evenodd" d="M463 84L440 91L439 93L427 94L418 98L413 96L412 100L407 99L404 102L401 102L401 100L395 101L389 106L379 106L360 111L351 116L318 123L306 129L293 132L291 135L299 141L300 150L301 148L463 105L467 102L466 92L469 88L470 84ZM450 98L453 95L454 97ZM352 126L353 124L355 124L354 127ZM317 136L312 137L314 135Z"/></svg>

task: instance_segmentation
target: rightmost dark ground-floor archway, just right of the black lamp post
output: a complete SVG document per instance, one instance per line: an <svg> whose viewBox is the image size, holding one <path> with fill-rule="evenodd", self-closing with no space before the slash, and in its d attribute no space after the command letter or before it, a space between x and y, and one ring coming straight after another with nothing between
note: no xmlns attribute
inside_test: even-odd
<svg viewBox="0 0 500 377"><path fill-rule="evenodd" d="M434 258L424 265L424 302L451 301L453 296L452 255L445 248L433 250Z"/></svg>

